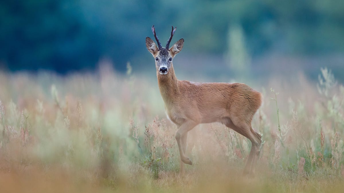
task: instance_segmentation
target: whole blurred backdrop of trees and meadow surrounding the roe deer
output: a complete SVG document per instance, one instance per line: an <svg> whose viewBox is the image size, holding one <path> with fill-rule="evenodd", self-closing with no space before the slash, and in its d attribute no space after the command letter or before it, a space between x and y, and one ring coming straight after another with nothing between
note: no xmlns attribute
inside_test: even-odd
<svg viewBox="0 0 344 193"><path fill-rule="evenodd" d="M0 1L0 192L343 192L343 10L343 0ZM163 46L171 25L171 45L185 40L178 79L264 96L256 179L241 177L251 143L219 123L190 131L194 165L178 174L177 128L145 45L153 24Z"/></svg>

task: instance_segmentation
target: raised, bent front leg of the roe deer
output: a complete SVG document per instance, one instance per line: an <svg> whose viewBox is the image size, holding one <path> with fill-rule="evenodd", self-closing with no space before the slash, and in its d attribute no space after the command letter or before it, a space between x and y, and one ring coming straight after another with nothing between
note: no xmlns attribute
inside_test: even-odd
<svg viewBox="0 0 344 193"><path fill-rule="evenodd" d="M190 165L192 165L192 161L188 157L185 156L184 144L182 143L183 142L182 137L189 130L193 129L196 125L197 125L197 123L195 123L193 121L186 121L185 123L183 123L178 128L177 132L175 133L175 139L177 140L179 153L180 153L180 159L182 160L182 162L184 162L186 164L190 164ZM185 139L185 141L186 141L186 139ZM185 150L186 150L186 144L185 144Z"/></svg>

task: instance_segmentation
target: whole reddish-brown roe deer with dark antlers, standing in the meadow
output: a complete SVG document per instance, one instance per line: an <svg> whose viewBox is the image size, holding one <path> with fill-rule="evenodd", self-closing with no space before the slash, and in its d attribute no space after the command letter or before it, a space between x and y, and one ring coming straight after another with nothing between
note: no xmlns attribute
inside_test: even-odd
<svg viewBox="0 0 344 193"><path fill-rule="evenodd" d="M175 139L180 152L181 168L183 163L192 165L185 156L187 132L200 123L221 122L239 134L247 137L251 143L251 151L244 173L254 173L261 135L251 127L253 115L262 103L262 95L243 83L194 83L178 80L175 76L172 60L184 45L184 39L169 47L176 28L162 47L154 25L152 31L158 46L151 38L146 37L146 47L155 58L155 67L160 94L165 103L168 118L177 125Z"/></svg>

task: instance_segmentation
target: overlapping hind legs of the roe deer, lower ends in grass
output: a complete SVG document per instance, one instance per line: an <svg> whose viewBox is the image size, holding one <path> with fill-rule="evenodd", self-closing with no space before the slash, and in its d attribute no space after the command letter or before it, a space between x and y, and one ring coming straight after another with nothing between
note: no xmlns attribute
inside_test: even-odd
<svg viewBox="0 0 344 193"><path fill-rule="evenodd" d="M251 143L251 151L248 156L245 168L244 168L244 174L253 174L254 173L254 168L255 168L255 163L257 162L257 158L259 156L259 148L260 148L260 143L261 139L259 138L259 134L256 133L250 124L248 123L233 123L232 120L229 118L226 120L225 125L239 134L247 137ZM258 135L259 136L258 136Z"/></svg>

